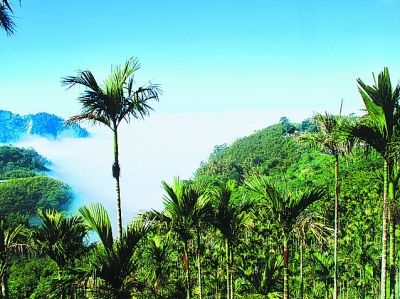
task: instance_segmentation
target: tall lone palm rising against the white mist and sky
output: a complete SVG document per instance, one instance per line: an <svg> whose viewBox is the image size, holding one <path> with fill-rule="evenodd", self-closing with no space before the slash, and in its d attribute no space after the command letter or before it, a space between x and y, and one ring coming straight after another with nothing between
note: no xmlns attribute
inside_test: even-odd
<svg viewBox="0 0 400 299"><path fill-rule="evenodd" d="M109 127L114 135L114 164L112 175L116 181L118 236L122 236L120 165L118 149L118 127L121 122L129 122L131 118L143 119L152 108L150 100L159 99L158 85L149 83L134 89L134 76L140 64L136 58L128 59L123 66L116 66L106 78L103 86L99 86L91 71L79 71L76 76L62 78L62 84L71 88L80 85L85 90L78 97L82 104L81 114L72 116L66 124L84 121L100 123Z"/></svg>

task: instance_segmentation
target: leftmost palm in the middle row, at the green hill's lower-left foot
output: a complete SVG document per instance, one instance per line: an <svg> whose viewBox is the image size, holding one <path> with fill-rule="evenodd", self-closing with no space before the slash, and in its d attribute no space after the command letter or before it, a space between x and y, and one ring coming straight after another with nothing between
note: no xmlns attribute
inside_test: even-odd
<svg viewBox="0 0 400 299"><path fill-rule="evenodd" d="M164 211L162 213L153 211L152 214L159 221L166 223L169 230L175 233L183 243L183 266L186 298L188 299L192 296L189 240L193 238L193 231L196 232L198 283L201 296L200 227L210 214L209 201L203 196L202 190L179 178L174 178L172 185L168 185L165 181L162 182L162 185L166 192L163 197Z"/></svg>

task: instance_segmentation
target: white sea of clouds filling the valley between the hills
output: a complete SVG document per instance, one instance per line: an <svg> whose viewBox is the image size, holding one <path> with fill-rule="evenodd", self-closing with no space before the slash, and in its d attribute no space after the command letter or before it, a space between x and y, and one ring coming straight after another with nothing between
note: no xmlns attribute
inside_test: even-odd
<svg viewBox="0 0 400 299"><path fill-rule="evenodd" d="M153 113L119 130L123 222L149 209L163 207L161 181L188 179L206 161L215 145L276 123L282 116L293 122L310 117L305 110L229 111L212 113ZM69 184L82 205L101 202L116 219L115 181L111 175L113 139L104 126L88 127L89 138L50 141L29 137L15 143L32 147L51 161L50 176Z"/></svg>

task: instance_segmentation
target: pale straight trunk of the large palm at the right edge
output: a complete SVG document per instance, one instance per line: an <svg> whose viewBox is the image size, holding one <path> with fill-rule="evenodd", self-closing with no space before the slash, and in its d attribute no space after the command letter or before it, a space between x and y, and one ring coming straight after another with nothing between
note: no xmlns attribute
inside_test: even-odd
<svg viewBox="0 0 400 299"><path fill-rule="evenodd" d="M386 299L387 202L389 173L388 168L388 162L385 160L383 166L381 299Z"/></svg>

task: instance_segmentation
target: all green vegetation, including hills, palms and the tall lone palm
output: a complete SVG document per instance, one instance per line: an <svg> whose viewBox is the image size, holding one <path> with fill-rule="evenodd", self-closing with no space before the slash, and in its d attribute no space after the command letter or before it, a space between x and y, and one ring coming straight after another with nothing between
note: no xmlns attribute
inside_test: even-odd
<svg viewBox="0 0 400 299"><path fill-rule="evenodd" d="M136 63L103 87L89 71L63 81L87 88L69 122L114 133L119 209L118 125L159 95L133 89ZM365 115L282 117L216 146L190 179L162 182L162 210L119 219L118 237L101 204L59 211L68 187L45 158L0 148L0 298L398 298L400 87L386 68L357 82Z"/></svg>

